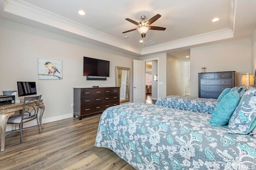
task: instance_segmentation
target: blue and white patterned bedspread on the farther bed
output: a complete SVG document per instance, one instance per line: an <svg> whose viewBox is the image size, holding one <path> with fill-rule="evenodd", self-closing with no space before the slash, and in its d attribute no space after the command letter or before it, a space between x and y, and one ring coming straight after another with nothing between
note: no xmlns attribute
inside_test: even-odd
<svg viewBox="0 0 256 170"><path fill-rule="evenodd" d="M218 102L217 99L166 96L159 98L156 101L156 105L180 110L212 114L214 108L218 105Z"/></svg>

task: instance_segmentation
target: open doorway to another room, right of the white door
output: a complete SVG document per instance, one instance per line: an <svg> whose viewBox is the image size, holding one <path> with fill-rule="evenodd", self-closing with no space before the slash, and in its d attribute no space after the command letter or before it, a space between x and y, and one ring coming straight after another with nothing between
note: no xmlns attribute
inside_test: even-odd
<svg viewBox="0 0 256 170"><path fill-rule="evenodd" d="M155 104L158 98L158 61L146 61L146 103Z"/></svg>

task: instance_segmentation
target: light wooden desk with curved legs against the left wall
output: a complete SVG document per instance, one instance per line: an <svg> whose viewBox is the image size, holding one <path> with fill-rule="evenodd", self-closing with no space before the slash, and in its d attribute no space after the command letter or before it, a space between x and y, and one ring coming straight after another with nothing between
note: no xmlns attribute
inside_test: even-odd
<svg viewBox="0 0 256 170"><path fill-rule="evenodd" d="M3 105L0 106L0 142L1 142L1 152L4 151L4 144L5 144L5 131L6 131L6 125L7 125L7 121L9 119L10 116L14 115L14 111L22 111L23 109L23 102L21 103L15 103L15 104L7 104L7 105ZM41 100L40 102L40 112L38 112L40 114L39 116L39 123L40 126L42 128L43 124L42 124L42 117L44 114L44 102L43 100Z"/></svg>

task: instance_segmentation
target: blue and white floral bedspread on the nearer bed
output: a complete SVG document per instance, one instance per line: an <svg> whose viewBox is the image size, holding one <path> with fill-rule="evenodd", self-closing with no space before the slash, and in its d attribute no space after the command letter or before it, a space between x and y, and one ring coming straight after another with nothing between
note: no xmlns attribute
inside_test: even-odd
<svg viewBox="0 0 256 170"><path fill-rule="evenodd" d="M109 107L95 146L113 150L138 170L256 168L256 138L212 127L210 116L145 103Z"/></svg>

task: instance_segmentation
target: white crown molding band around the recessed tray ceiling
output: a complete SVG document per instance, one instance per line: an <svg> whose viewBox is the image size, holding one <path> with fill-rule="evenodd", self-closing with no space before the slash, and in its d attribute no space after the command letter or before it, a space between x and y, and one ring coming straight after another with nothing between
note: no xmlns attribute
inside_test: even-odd
<svg viewBox="0 0 256 170"><path fill-rule="evenodd" d="M74 37L81 36L101 44L106 44L119 51L128 51L137 55L148 55L151 53L159 53L180 47L188 47L234 37L235 4L236 0L229 0L229 28L143 48L135 47L126 41L44 10L38 6L24 2L23 0L5 0L4 12L73 33L76 35Z"/></svg>

